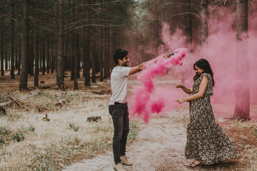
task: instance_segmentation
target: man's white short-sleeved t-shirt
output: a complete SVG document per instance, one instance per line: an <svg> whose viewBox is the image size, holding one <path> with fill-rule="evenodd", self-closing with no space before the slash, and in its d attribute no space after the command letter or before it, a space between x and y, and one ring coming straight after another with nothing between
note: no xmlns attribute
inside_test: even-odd
<svg viewBox="0 0 257 171"><path fill-rule="evenodd" d="M116 66L111 74L111 89L112 97L109 105L114 105L114 102L127 103L128 91L128 74L131 67Z"/></svg>

